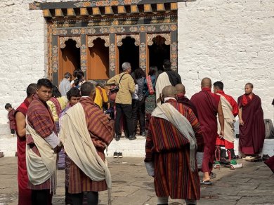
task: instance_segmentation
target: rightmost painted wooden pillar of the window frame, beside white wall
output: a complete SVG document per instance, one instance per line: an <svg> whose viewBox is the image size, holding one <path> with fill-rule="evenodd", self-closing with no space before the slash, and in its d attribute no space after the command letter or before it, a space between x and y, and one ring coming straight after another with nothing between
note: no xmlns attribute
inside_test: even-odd
<svg viewBox="0 0 274 205"><path fill-rule="evenodd" d="M170 62L171 69L178 72L178 40L177 31L171 31L171 42L170 42Z"/></svg>

